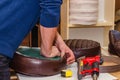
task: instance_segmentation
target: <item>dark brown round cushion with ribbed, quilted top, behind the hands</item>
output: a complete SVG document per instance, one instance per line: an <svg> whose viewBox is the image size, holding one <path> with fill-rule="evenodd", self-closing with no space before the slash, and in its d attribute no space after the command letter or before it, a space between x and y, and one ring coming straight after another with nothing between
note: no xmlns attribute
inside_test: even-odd
<svg viewBox="0 0 120 80"><path fill-rule="evenodd" d="M100 43L87 39L64 40L69 48L74 52L75 59L79 57L101 55Z"/></svg>

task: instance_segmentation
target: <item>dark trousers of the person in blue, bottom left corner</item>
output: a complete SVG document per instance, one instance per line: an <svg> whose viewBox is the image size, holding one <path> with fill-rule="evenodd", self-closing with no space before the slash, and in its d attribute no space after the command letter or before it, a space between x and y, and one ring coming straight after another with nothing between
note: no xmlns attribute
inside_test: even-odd
<svg viewBox="0 0 120 80"><path fill-rule="evenodd" d="M10 80L9 61L9 58L0 55L0 80Z"/></svg>

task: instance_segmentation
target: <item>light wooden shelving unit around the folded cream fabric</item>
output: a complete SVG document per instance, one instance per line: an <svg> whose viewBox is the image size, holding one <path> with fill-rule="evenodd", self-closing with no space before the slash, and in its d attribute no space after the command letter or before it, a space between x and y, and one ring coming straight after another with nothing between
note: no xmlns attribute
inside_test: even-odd
<svg viewBox="0 0 120 80"><path fill-rule="evenodd" d="M107 47L108 32L114 29L115 0L99 0L99 19L95 25L81 25L70 23L70 0L63 0L61 8L60 33L63 39L92 39ZM102 19L100 19L102 17Z"/></svg>

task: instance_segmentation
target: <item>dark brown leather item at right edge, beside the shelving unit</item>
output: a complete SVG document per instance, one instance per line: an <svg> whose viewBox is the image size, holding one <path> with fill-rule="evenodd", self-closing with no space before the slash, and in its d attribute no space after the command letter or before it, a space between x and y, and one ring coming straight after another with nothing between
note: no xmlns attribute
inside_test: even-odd
<svg viewBox="0 0 120 80"><path fill-rule="evenodd" d="M120 32L117 30L109 31L108 51L110 54L120 57Z"/></svg>

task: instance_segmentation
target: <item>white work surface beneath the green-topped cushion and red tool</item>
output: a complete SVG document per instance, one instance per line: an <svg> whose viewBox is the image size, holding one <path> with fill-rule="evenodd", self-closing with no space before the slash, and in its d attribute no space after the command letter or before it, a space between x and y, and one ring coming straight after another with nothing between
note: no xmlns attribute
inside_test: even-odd
<svg viewBox="0 0 120 80"><path fill-rule="evenodd" d="M72 70L73 75L70 78L61 77L61 74L48 76L48 77L32 77L32 76L26 76L22 74L18 74L20 80L78 80L77 79L77 63L73 63L72 65L69 65L67 69ZM107 78L106 78L107 77ZM100 73L98 80L117 80L114 76L111 76L108 73ZM83 80L92 80L91 76L84 77Z"/></svg>

